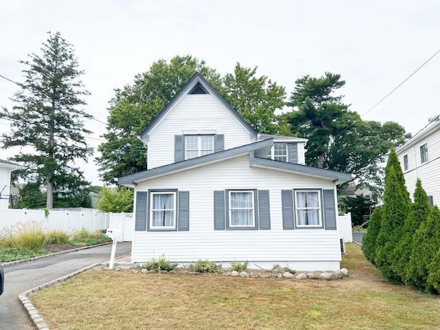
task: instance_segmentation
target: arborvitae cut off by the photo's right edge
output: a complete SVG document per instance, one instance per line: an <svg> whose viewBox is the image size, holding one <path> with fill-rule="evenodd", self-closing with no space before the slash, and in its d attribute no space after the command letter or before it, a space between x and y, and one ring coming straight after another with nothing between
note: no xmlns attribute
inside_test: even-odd
<svg viewBox="0 0 440 330"><path fill-rule="evenodd" d="M412 252L408 274L411 283L420 289L434 292L432 282L435 279L434 266L430 267L433 272L428 282L428 267L440 250L440 210L437 206L432 208L426 222L420 224L412 238Z"/></svg>

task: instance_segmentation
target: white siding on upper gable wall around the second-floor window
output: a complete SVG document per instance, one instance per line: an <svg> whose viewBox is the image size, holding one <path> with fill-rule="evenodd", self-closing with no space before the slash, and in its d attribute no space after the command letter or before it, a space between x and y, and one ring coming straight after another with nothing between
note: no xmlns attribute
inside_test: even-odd
<svg viewBox="0 0 440 330"><path fill-rule="evenodd" d="M212 94L182 96L149 134L148 169L174 162L175 135L214 134L224 135L225 149L254 142L249 131Z"/></svg>

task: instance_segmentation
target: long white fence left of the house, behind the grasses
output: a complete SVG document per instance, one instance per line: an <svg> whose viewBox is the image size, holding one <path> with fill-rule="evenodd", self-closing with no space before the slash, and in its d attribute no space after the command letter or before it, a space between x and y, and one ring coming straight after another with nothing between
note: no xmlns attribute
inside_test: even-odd
<svg viewBox="0 0 440 330"><path fill-rule="evenodd" d="M93 208L52 209L45 217L44 210L0 209L0 232L5 227L30 221L43 223L44 230L63 230L69 234L82 228L90 231L121 229L122 237L118 241L132 241L134 234L133 213L100 212Z"/></svg>

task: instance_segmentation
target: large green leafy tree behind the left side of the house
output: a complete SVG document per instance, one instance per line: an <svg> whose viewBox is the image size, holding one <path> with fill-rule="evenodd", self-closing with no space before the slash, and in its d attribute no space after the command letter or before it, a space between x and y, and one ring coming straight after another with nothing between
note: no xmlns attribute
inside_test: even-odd
<svg viewBox="0 0 440 330"><path fill-rule="evenodd" d="M107 142L100 144L96 158L103 181L115 183L115 177L146 170L146 149L138 136L195 72L221 89L219 74L188 55L175 56L170 63L159 60L148 72L137 74L132 85L115 90L104 134Z"/></svg>

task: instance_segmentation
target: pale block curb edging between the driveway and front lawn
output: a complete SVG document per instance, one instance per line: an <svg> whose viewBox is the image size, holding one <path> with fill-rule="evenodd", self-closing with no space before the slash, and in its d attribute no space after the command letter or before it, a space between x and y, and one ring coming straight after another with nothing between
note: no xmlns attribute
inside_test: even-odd
<svg viewBox="0 0 440 330"><path fill-rule="evenodd" d="M32 305L32 303L30 302L30 300L28 298L28 294L32 294L34 292L40 291L41 289L44 289L45 287L51 287L52 285L56 285L58 283L66 281L69 278L72 278L72 277L74 277L76 275L79 275L79 274L85 272L86 270L91 270L92 268L97 267L98 265L101 265L101 264L100 263L94 263L93 265L91 265L89 267L85 267L82 270L77 270L76 272L73 272L71 274L67 274L67 275L65 275L63 277L56 278L56 280L54 280L54 281L50 281L50 282L44 283L42 285L39 285L38 287L34 287L33 289L30 289L30 290L28 290L26 292L23 292L23 294L19 295L19 300L21 302L21 305L23 305L23 308L29 314L29 317L32 320L32 323L34 323L34 325L36 326L37 329L39 329L39 330L49 330L49 327L47 327L46 323L44 322L44 320L41 317L41 315L39 314L39 312L36 310L34 305Z"/></svg>

